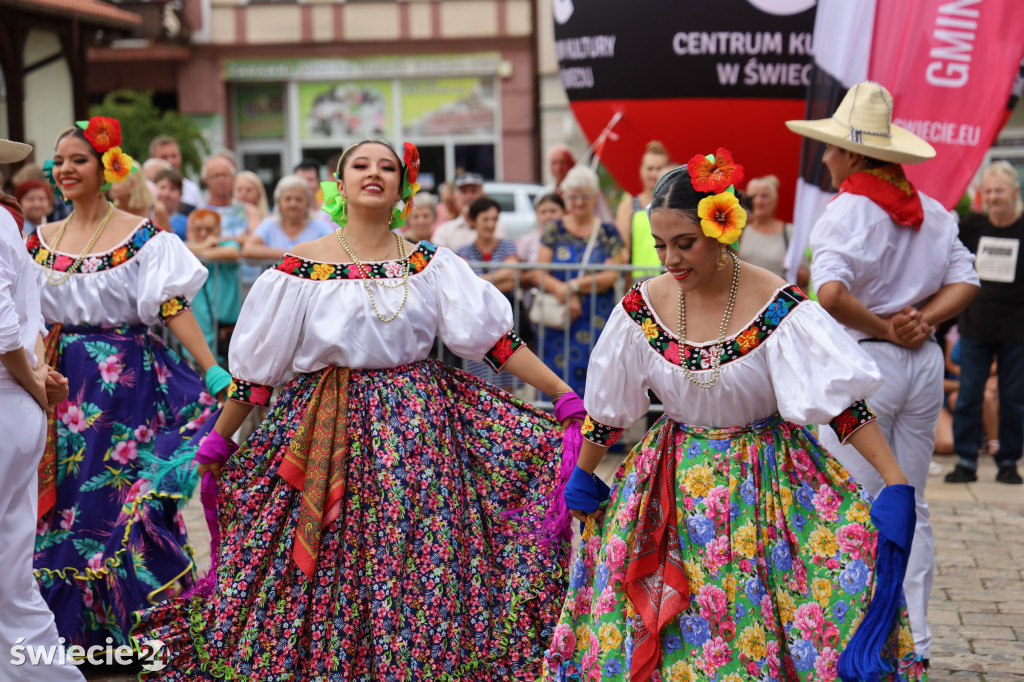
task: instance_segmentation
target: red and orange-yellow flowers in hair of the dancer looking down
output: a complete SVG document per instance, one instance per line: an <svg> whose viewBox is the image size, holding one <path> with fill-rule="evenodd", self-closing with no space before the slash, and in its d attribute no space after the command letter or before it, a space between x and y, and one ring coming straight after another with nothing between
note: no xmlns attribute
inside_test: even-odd
<svg viewBox="0 0 1024 682"><path fill-rule="evenodd" d="M736 184L743 177L743 167L732 161L728 150L719 147L714 155L696 155L686 169L694 190L715 193L697 204L700 230L722 244L735 244L746 225L746 211L736 199Z"/></svg>

